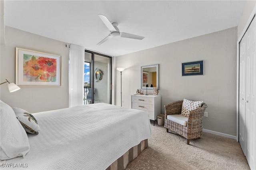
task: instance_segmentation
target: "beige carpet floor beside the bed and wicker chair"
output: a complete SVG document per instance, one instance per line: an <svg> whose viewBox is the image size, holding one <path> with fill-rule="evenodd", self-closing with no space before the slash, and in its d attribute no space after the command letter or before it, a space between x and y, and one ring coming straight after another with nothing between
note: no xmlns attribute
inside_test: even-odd
<svg viewBox="0 0 256 170"><path fill-rule="evenodd" d="M151 127L148 148L126 170L250 170L235 139L203 132L187 145L184 137L166 132L164 126Z"/></svg>

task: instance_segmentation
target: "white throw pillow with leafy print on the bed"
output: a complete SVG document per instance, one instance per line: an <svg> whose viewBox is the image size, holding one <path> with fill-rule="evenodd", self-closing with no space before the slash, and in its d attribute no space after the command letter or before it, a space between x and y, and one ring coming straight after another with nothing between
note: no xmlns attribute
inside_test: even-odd
<svg viewBox="0 0 256 170"><path fill-rule="evenodd" d="M17 107L12 107L12 109L16 117L20 121L20 124L22 125L22 127L26 130L26 132L32 133L32 134L38 134L38 131L40 131L40 127L37 124L36 118L34 118L33 115Z"/></svg>

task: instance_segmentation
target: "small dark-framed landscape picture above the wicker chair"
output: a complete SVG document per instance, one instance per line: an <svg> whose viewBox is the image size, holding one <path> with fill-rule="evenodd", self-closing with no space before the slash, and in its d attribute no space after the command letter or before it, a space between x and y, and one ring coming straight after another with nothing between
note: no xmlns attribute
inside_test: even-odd
<svg viewBox="0 0 256 170"><path fill-rule="evenodd" d="M204 75L204 61L182 63L182 76Z"/></svg>

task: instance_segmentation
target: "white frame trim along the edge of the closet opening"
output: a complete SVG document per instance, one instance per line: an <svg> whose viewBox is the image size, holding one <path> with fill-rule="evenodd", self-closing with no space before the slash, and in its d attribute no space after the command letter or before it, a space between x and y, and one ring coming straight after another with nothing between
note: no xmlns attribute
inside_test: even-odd
<svg viewBox="0 0 256 170"><path fill-rule="evenodd" d="M250 17L248 18L246 25L244 26L243 31L240 34L240 37L237 40L236 43L236 141L239 141L239 56L240 56L240 42L242 38L244 37L244 34L246 33L247 29L250 26L250 23L252 22L254 16L256 15L256 6L254 6L254 9L252 10L252 13Z"/></svg>

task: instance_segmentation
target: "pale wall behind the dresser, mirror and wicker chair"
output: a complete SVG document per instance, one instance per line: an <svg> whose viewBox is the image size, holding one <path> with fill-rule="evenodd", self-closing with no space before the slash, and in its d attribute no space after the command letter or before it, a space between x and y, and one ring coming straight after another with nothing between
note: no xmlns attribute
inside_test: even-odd
<svg viewBox="0 0 256 170"><path fill-rule="evenodd" d="M123 106L140 88L140 67L159 64L159 95L164 105L183 99L204 101L208 117L203 128L236 136L237 28L115 57L122 74ZM181 76L182 63L204 60L204 75ZM116 104L120 105L120 75L116 71ZM148 91L152 94L152 90Z"/></svg>

